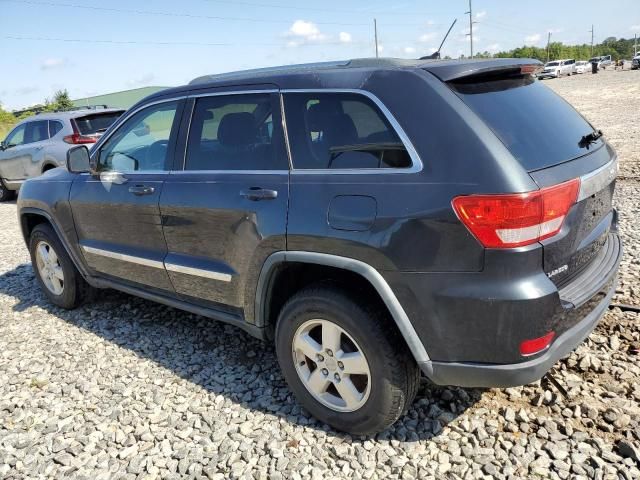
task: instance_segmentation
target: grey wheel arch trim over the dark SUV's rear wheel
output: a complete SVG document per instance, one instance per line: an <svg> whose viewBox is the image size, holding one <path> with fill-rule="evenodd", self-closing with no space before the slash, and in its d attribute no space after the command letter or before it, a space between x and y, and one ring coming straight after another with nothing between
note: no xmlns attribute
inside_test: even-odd
<svg viewBox="0 0 640 480"><path fill-rule="evenodd" d="M353 258L301 251L276 252L269 256L263 264L256 289L253 320L257 327L267 328L273 322L270 309L274 298L274 283L278 272L291 264L337 269L366 282L387 308L416 362L428 373L431 365L429 355L391 287L375 268Z"/></svg>

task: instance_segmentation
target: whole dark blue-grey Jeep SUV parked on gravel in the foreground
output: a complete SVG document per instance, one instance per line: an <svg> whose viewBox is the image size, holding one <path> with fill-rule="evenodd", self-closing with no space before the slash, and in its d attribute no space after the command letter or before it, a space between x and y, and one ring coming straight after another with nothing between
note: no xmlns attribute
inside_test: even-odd
<svg viewBox="0 0 640 480"><path fill-rule="evenodd" d="M529 59L205 76L131 108L18 215L37 281L115 288L275 344L318 419L371 434L439 385L541 378L621 256L617 159Z"/></svg>

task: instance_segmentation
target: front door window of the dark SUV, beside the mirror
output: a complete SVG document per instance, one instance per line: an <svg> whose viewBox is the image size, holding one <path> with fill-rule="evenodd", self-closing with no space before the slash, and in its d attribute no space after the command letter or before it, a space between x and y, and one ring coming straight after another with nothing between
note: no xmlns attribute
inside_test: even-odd
<svg viewBox="0 0 640 480"><path fill-rule="evenodd" d="M98 170L165 170L169 138L177 128L177 109L177 101L160 103L127 119L100 149Z"/></svg>

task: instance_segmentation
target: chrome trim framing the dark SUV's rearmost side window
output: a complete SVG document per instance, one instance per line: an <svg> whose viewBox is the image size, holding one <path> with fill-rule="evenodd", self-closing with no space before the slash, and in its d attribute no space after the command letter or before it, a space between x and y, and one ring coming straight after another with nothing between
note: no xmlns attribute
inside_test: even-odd
<svg viewBox="0 0 640 480"><path fill-rule="evenodd" d="M422 169L424 168L422 159L420 158L420 155L418 155L418 152L413 146L413 143L409 139L409 136L407 135L407 133L404 131L402 126L398 123L398 121L393 116L393 114L389 111L389 109L385 106L385 104L382 103L382 101L373 93L367 90L359 89L359 88L286 88L286 89L280 90L280 93L282 95L286 95L289 93L294 93L294 94L295 93L350 93L355 95L362 95L368 98L369 100L371 100L380 109L382 114L385 116L385 118L391 125L391 128L393 128L396 135L398 135L398 137L400 138L400 141L404 145L404 148L407 150L407 153L409 153L409 157L411 158L411 167L408 167L408 168L345 168L345 169L298 168L297 169L295 168L293 163L294 159L293 157L291 157L291 173L292 174L295 174L295 175L300 175L300 174L363 175L363 174L418 173L418 172L421 172ZM285 110L284 99L282 100L282 108L283 108L282 118L286 126L286 117L284 115L284 110ZM285 131L287 131L286 128L285 128Z"/></svg>

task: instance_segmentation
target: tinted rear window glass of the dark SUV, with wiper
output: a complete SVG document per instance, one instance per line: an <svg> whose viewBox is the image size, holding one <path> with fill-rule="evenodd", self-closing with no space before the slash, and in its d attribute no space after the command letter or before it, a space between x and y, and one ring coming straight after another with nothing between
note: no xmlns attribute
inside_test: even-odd
<svg viewBox="0 0 640 480"><path fill-rule="evenodd" d="M602 144L581 141L593 132L591 124L530 75L463 79L450 86L527 171L571 160Z"/></svg>

